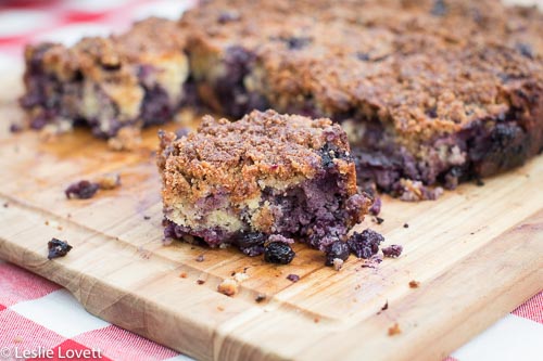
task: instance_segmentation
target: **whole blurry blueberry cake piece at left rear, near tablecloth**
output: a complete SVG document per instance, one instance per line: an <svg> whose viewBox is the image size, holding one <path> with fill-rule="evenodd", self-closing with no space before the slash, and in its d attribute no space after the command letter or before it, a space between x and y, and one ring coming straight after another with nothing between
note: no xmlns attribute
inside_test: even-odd
<svg viewBox="0 0 543 361"><path fill-rule="evenodd" d="M70 48L28 46L21 105L30 128L87 124L96 136L110 138L126 126L169 120L185 98L184 49L177 24L156 17L123 35L85 38Z"/></svg>

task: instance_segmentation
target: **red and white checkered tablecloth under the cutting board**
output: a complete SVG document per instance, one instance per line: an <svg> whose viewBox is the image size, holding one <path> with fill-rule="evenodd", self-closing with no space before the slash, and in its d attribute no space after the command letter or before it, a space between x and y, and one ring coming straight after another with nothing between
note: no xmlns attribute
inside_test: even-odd
<svg viewBox="0 0 543 361"><path fill-rule="evenodd" d="M24 43L74 43L146 16L177 18L190 0L0 0L0 74L20 66ZM543 285L542 285L543 286ZM50 353L52 352L52 353ZM51 357L52 354L52 357ZM543 292L447 360L541 360ZM71 358L190 360L89 313L61 286L0 260L0 361Z"/></svg>

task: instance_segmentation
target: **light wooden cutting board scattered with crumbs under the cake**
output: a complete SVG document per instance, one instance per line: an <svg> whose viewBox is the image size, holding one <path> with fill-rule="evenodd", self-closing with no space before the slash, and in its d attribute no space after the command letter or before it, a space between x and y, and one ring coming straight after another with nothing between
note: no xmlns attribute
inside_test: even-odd
<svg viewBox="0 0 543 361"><path fill-rule="evenodd" d="M65 286L89 312L197 359L440 360L543 288L543 157L438 202L384 197L384 222L369 217L357 229L403 245L399 259L366 267L351 257L337 272L298 246L290 266L273 266L231 249L163 246L156 129L132 153L111 152L85 130L52 143L13 136L5 128L22 114L12 83L0 98L0 257ZM70 183L110 171L121 189L64 196ZM47 260L51 237L74 249ZM243 271L239 294L216 291Z"/></svg>

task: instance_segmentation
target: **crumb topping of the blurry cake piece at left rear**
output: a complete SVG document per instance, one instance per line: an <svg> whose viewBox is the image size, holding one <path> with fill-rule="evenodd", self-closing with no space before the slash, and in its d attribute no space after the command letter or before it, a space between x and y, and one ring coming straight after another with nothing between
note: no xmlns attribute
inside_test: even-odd
<svg viewBox="0 0 543 361"><path fill-rule="evenodd" d="M83 74L96 81L134 82L138 69L132 65L178 57L184 46L176 22L150 17L122 35L88 37L70 48L48 42L28 46L25 57L61 80L77 80Z"/></svg>

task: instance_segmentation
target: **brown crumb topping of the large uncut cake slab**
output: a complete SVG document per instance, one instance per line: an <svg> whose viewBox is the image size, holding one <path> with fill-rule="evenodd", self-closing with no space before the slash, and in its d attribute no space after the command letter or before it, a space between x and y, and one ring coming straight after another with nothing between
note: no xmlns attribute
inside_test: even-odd
<svg viewBox="0 0 543 361"><path fill-rule="evenodd" d="M507 118L515 92L543 87L538 11L495 0L238 2L210 1L180 25L197 55L254 53L265 72L248 89L263 81L281 112L311 94L303 101L321 114L362 113L418 143Z"/></svg>

